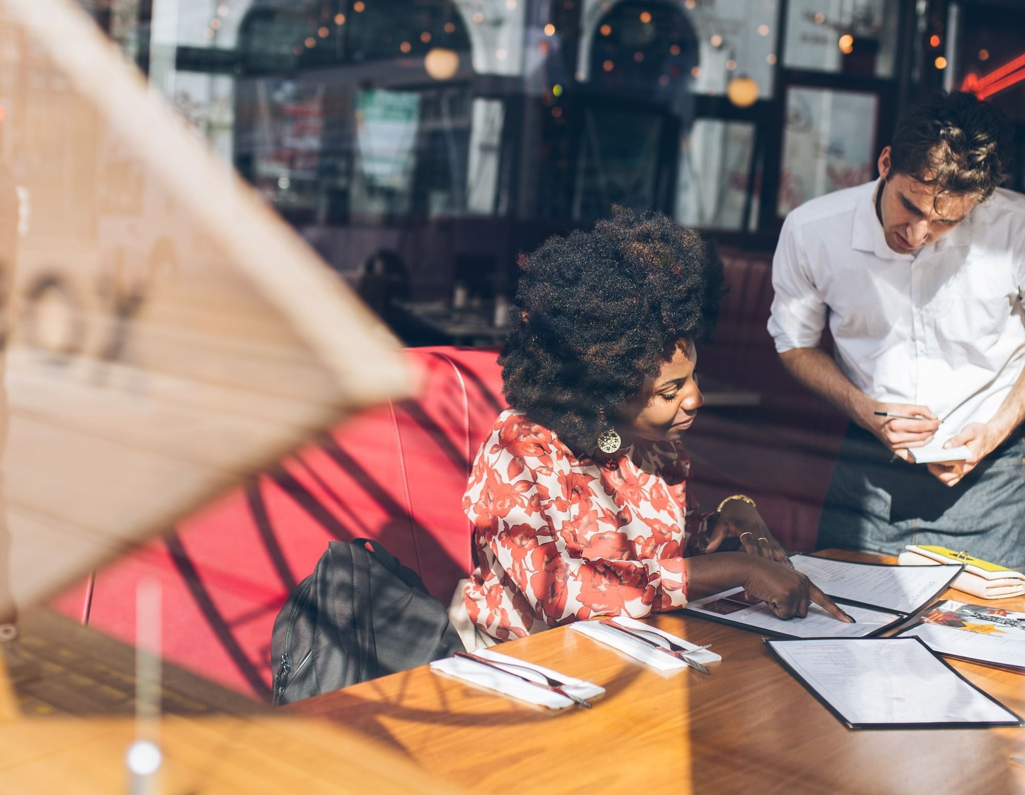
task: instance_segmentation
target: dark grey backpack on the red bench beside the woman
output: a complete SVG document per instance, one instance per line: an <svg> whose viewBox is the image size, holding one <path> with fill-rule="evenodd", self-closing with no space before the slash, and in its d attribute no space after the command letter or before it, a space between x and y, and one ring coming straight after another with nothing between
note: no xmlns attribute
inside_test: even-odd
<svg viewBox="0 0 1025 795"><path fill-rule="evenodd" d="M332 541L275 619L274 704L404 671L462 648L445 606L416 572L376 541Z"/></svg>

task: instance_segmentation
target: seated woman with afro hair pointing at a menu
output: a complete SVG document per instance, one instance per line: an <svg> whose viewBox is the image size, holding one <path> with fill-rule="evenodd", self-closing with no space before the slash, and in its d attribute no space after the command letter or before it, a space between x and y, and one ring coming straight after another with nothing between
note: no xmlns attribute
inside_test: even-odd
<svg viewBox="0 0 1025 795"><path fill-rule="evenodd" d="M476 564L453 610L464 642L737 586L781 618L814 601L851 620L789 567L751 500L699 513L687 493L682 437L703 402L694 344L724 293L714 249L660 213L616 209L523 260L500 359L509 409L463 497ZM744 551L710 554L727 537Z"/></svg>

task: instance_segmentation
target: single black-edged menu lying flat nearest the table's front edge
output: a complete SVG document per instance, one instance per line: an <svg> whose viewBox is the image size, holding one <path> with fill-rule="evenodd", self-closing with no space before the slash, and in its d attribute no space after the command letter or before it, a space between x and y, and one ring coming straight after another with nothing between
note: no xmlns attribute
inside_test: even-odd
<svg viewBox="0 0 1025 795"><path fill-rule="evenodd" d="M1022 724L918 638L766 640L766 645L849 728Z"/></svg>

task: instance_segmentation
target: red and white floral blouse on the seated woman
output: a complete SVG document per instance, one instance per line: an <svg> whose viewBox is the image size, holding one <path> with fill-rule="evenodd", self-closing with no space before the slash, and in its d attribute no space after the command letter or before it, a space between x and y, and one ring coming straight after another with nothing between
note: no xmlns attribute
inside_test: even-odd
<svg viewBox="0 0 1025 795"><path fill-rule="evenodd" d="M502 412L462 499L475 526L470 620L508 640L684 606L685 547L707 519L688 502L689 470L679 443L638 442L599 465L521 412Z"/></svg>

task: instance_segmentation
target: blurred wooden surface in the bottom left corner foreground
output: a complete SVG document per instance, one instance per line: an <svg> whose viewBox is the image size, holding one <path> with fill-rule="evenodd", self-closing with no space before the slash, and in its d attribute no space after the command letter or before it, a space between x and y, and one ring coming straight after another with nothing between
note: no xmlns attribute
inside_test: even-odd
<svg viewBox="0 0 1025 795"><path fill-rule="evenodd" d="M41 676L15 694L0 655L0 792L128 792L133 650L46 610L23 629ZM162 700L163 795L459 791L344 726L276 713L173 666Z"/></svg>

